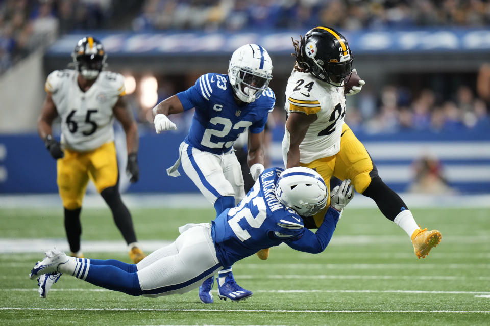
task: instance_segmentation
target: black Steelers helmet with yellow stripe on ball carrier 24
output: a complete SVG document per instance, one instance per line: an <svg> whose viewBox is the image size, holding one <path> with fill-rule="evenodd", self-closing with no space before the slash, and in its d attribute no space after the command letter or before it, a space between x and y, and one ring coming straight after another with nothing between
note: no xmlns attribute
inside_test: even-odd
<svg viewBox="0 0 490 326"><path fill-rule="evenodd" d="M352 72L351 49L342 34L328 27L315 27L301 39L298 65L316 78L343 86Z"/></svg>

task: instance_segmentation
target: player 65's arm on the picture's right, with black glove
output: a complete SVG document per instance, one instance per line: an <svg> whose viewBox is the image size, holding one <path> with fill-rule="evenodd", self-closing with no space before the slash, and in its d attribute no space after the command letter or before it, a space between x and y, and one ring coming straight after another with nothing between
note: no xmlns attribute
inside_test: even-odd
<svg viewBox="0 0 490 326"><path fill-rule="evenodd" d="M128 164L126 172L129 175L129 181L134 183L139 179L138 167L138 125L134 120L133 113L126 104L126 101L119 97L113 107L114 117L121 123L124 132L126 133L126 147L128 149Z"/></svg>

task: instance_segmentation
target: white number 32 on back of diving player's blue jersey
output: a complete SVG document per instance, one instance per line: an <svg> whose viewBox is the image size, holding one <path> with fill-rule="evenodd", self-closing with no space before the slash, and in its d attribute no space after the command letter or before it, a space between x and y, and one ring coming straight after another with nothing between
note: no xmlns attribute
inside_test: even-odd
<svg viewBox="0 0 490 326"><path fill-rule="evenodd" d="M230 208L230 210L228 211L228 215L233 216L230 220L228 220L228 224L230 225L233 232L235 232L236 236L241 241L245 241L251 238L250 233L247 232L247 230L243 230L241 226L238 224L238 222L240 222L241 219L245 219L245 221L247 221L247 223L251 227L258 229L260 228L262 223L264 223L265 218L267 217L267 212L266 212L267 207L265 206L264 199L261 196L257 196L257 193L258 191L256 191L254 187L254 190L251 191L247 195L247 197L243 198L243 200L240 202L240 205L238 207ZM250 208L244 207L245 204L250 202L250 200L252 200L254 206L257 207L258 209L257 213L255 212L252 213Z"/></svg>

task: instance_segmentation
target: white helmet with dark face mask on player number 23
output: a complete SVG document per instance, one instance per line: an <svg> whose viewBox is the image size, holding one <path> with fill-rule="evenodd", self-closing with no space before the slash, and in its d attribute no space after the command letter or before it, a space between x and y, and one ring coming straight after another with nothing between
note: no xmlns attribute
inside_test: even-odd
<svg viewBox="0 0 490 326"><path fill-rule="evenodd" d="M272 60L260 45L246 44L233 52L228 68L230 84L243 102L253 102L267 89L272 79Z"/></svg>

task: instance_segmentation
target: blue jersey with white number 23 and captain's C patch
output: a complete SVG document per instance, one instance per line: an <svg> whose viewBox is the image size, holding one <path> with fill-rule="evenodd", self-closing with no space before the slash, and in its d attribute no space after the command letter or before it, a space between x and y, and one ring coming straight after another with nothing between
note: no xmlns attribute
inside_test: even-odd
<svg viewBox="0 0 490 326"><path fill-rule="evenodd" d="M235 102L233 92L228 75L208 73L177 94L184 110L195 107L186 143L201 151L222 154L232 148L247 128L252 133L264 130L267 115L276 103L272 89L242 106Z"/></svg>

